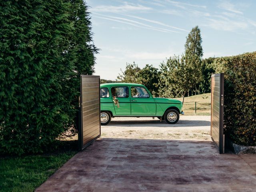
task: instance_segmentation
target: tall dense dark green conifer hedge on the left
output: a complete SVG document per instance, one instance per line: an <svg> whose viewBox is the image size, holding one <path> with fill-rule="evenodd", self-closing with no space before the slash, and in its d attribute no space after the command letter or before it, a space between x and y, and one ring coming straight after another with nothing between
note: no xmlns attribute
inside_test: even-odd
<svg viewBox="0 0 256 192"><path fill-rule="evenodd" d="M0 1L0 152L38 153L76 129L80 74L94 71L82 0Z"/></svg>

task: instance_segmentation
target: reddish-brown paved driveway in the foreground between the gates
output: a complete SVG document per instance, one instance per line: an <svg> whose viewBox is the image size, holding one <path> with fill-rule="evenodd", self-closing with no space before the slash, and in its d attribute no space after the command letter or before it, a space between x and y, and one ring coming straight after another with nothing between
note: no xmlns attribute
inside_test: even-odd
<svg viewBox="0 0 256 192"><path fill-rule="evenodd" d="M255 192L256 156L218 154L210 141L102 138L37 192Z"/></svg>

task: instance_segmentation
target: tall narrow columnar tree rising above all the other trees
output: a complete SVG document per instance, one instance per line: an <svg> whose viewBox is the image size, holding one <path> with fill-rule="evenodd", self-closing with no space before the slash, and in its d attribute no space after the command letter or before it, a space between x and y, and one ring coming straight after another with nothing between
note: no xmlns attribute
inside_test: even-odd
<svg viewBox="0 0 256 192"><path fill-rule="evenodd" d="M196 84L202 80L202 38L198 26L192 28L186 38L185 44L185 63L190 73L190 88L195 90Z"/></svg>

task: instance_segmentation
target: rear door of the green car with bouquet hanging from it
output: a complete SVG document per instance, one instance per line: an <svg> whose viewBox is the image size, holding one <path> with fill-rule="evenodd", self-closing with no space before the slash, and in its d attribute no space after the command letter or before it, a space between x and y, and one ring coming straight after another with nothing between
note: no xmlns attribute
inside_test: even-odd
<svg viewBox="0 0 256 192"><path fill-rule="evenodd" d="M112 100L114 97L118 100L119 107L113 102L116 115L130 115L131 101L128 86L113 86L111 87Z"/></svg>

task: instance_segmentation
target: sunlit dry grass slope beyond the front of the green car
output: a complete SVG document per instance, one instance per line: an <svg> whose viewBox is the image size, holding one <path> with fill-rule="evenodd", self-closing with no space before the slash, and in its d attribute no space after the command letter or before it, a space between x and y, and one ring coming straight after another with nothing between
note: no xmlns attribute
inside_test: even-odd
<svg viewBox="0 0 256 192"><path fill-rule="evenodd" d="M176 98L182 101L182 98ZM196 102L196 113L195 113ZM200 94L184 98L183 112L185 115L211 115L211 94Z"/></svg>

